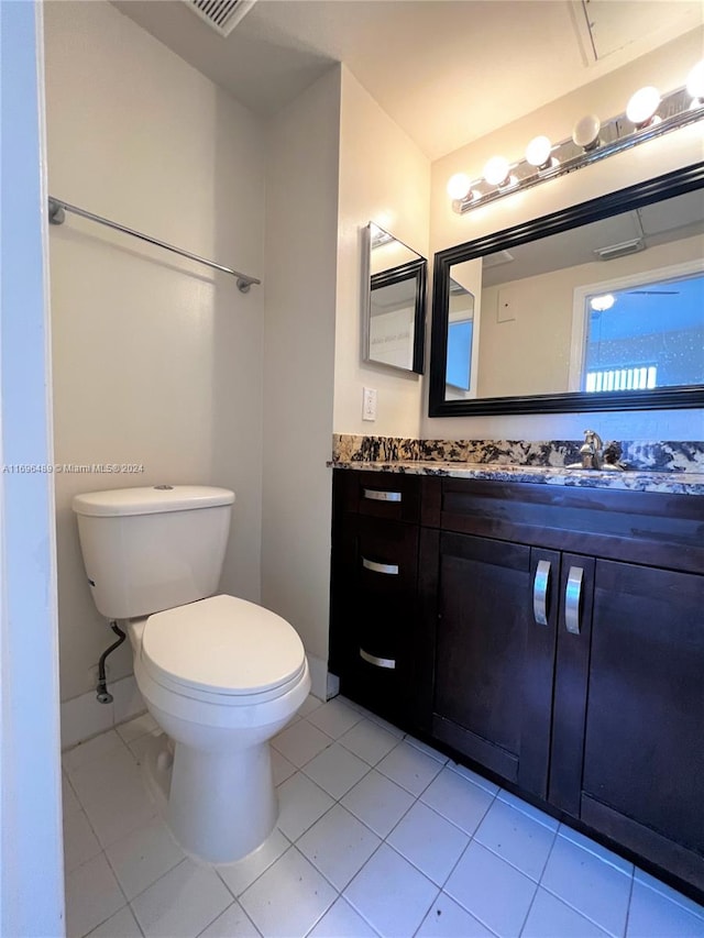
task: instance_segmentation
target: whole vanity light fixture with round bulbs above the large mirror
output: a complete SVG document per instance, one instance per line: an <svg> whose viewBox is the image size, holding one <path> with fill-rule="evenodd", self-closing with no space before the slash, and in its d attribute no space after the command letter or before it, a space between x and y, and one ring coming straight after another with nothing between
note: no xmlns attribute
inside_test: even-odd
<svg viewBox="0 0 704 938"><path fill-rule="evenodd" d="M544 135L534 137L524 159L509 163L503 156L495 156L484 167L481 179L455 174L448 184L452 209L463 214L701 120L704 120L704 59L691 69L686 87L663 96L651 85L640 88L623 114L607 121L586 114L574 124L571 136L557 144L551 144Z"/></svg>

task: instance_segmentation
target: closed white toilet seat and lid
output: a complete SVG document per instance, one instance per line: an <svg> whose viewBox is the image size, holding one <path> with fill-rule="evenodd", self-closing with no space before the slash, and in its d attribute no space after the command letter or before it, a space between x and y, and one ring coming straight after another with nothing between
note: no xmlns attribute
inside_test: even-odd
<svg viewBox="0 0 704 938"><path fill-rule="evenodd" d="M220 706L280 697L306 667L302 642L285 619L226 595L150 616L140 658L165 689Z"/></svg>

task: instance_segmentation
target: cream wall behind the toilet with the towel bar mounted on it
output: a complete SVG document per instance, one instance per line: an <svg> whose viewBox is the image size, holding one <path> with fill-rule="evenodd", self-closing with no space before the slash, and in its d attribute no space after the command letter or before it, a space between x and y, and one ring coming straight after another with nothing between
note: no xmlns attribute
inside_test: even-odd
<svg viewBox="0 0 704 938"><path fill-rule="evenodd" d="M263 276L263 128L107 2L47 3L52 195ZM222 588L260 598L264 293L68 216L51 229L62 696L95 686L112 633L85 583L75 493L237 492ZM130 649L110 676L131 671Z"/></svg>

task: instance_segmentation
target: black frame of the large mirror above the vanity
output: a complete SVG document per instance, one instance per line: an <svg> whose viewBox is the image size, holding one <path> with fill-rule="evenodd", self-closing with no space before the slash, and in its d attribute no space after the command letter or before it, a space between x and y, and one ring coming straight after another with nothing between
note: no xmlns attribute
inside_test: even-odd
<svg viewBox="0 0 704 938"><path fill-rule="evenodd" d="M487 413L572 413L704 407L704 385L663 387L654 390L600 391L598 394L565 391L525 397L444 399L449 280L453 264L526 244L550 234L559 234L582 224L590 224L603 218L681 196L702 187L704 187L704 162L438 252L433 262L428 416L472 417Z"/></svg>

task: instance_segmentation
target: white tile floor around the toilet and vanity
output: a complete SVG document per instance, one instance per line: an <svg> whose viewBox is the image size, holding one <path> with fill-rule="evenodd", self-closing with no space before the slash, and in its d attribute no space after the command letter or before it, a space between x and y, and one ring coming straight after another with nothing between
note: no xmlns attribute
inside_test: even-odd
<svg viewBox="0 0 704 938"><path fill-rule="evenodd" d="M64 754L67 934L704 938L704 908L338 697L273 741L278 827L187 858L139 760L150 716Z"/></svg>

